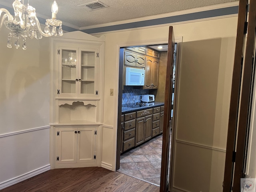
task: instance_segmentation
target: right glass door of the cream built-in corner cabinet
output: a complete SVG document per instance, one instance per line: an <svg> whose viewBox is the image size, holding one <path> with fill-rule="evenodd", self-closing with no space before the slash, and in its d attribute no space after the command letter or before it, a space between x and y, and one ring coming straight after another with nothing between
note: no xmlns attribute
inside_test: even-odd
<svg viewBox="0 0 256 192"><path fill-rule="evenodd" d="M95 96L97 79L97 50L80 49L79 94ZM80 96L79 96L80 97Z"/></svg>

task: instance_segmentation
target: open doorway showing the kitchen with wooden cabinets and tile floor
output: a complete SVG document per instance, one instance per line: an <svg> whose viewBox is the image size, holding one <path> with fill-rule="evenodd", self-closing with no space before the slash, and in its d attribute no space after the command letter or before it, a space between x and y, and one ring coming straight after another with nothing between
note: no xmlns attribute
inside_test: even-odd
<svg viewBox="0 0 256 192"><path fill-rule="evenodd" d="M158 47L162 46L162 50ZM144 49L145 48L145 49ZM123 174L144 180L151 184L160 185L160 170L161 170L161 154L162 154L162 131L161 131L161 115L163 117L164 108L164 92L166 80L166 63L167 63L167 44L155 44L149 46L133 46L120 48L120 72L119 72L119 101L118 107L118 140L117 140L117 159L116 170ZM145 54L143 51L145 50ZM153 56L148 56L146 51L153 51ZM173 90L172 90L172 116L174 104L174 87L176 73L176 57L177 44L174 54L174 74L173 74ZM147 70L150 70L148 64L152 62L158 63L157 67L157 87L147 88L145 86L128 86L126 85L126 68L140 68L145 70L145 75L148 75ZM135 63L134 63L135 62ZM136 65L136 62L138 64ZM144 66L143 66L144 62ZM142 66L139 66L142 65ZM153 68L155 70L156 68ZM151 74L154 72L151 71ZM153 76L153 75L152 75ZM146 77L145 77L146 78ZM154 80L153 80L154 81ZM151 80L152 82L152 80ZM148 80L145 80L145 84ZM154 83L153 83L154 84ZM154 95L153 101L145 102L148 107L141 108L140 104L143 100L141 95ZM132 104L136 108L132 107ZM156 105L155 105L156 104ZM128 107L127 107L128 106ZM151 106L151 107L150 107ZM145 137L144 125L144 141L138 141L138 128L140 118L136 115L138 111L150 110L148 119L142 117L142 121L150 122L150 136ZM159 120L153 118L157 116L159 108ZM155 110L155 111L154 111ZM161 111L162 110L162 111ZM155 113L154 113L155 112ZM151 112L150 112L151 113ZM124 118L125 115L133 116L128 121ZM130 128L124 130L124 126L129 125ZM146 140L145 140L146 138ZM129 143L130 142L130 143Z"/></svg>

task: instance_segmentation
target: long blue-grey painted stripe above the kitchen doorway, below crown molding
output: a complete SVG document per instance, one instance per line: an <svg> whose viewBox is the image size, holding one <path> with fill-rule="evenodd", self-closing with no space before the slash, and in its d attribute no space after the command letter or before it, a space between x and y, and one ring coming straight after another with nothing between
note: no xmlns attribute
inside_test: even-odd
<svg viewBox="0 0 256 192"><path fill-rule="evenodd" d="M207 10L207 11L201 11L201 12L195 12L195 13L189 13L189 14L183 14L183 15L177 15L177 16L170 16L170 17L157 18L157 19L151 19L151 20L145 20L145 21L139 21L139 22L126 23L126 24L118 24L113 26L85 29L81 31L88 34L110 32L110 31L116 31L116 30L184 22L184 21L212 18L217 16L232 15L232 14L238 14L238 6L219 8L214 10Z"/></svg>

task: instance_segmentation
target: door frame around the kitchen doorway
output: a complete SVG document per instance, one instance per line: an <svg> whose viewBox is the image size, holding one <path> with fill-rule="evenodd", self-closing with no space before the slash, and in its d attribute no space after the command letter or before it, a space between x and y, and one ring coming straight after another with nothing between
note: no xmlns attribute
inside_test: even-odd
<svg viewBox="0 0 256 192"><path fill-rule="evenodd" d="M182 36L176 37L175 38L175 43L177 43L177 51L181 50L180 46L182 43ZM117 64L116 67L118 68L118 101L117 101L117 130L115 131L115 136L114 138L116 139L115 145L114 145L114 151L115 151L115 156L114 156L114 168L115 170L118 170L120 168L120 140L121 140L121 115L122 115L122 82L123 82L123 76L121 75L123 73L123 66L120 66L120 63L122 63L122 58L120 58L120 48L123 47L129 47L129 46L148 46L148 45L156 45L156 44L168 44L168 37L166 38L159 38L159 39L153 39L153 40L141 40L141 41L131 41L131 42L120 42L116 44L116 52L117 52ZM179 53L180 56L180 53ZM180 59L177 57L177 62ZM178 82L178 77L176 78L176 81ZM177 87L178 89L178 87ZM174 138L175 139L175 138Z"/></svg>

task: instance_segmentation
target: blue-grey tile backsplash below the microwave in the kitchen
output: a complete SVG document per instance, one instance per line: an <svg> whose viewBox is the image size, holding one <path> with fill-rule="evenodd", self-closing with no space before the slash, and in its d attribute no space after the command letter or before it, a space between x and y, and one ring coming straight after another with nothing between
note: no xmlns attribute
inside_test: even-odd
<svg viewBox="0 0 256 192"><path fill-rule="evenodd" d="M148 91L146 89L134 89L133 86L124 86L122 104L140 102L140 96L148 94Z"/></svg>

